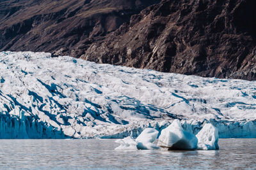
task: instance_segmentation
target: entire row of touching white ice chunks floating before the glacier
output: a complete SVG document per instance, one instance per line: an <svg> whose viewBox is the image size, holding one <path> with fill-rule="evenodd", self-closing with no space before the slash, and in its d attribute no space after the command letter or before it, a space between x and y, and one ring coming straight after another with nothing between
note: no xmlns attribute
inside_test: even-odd
<svg viewBox="0 0 256 170"><path fill-rule="evenodd" d="M172 124L163 129L157 145L154 145L158 131L147 128L141 132L137 139L130 136L116 140L120 146L116 150L152 150L168 148L168 150L218 150L218 129L207 123L196 136L184 131L179 120L173 120Z"/></svg>

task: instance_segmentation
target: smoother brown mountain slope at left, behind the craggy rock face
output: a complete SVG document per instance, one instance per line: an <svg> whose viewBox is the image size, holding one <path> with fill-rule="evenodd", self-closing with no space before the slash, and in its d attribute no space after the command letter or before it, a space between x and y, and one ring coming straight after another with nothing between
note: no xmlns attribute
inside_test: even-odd
<svg viewBox="0 0 256 170"><path fill-rule="evenodd" d="M79 57L95 38L159 0L0 1L0 50Z"/></svg>

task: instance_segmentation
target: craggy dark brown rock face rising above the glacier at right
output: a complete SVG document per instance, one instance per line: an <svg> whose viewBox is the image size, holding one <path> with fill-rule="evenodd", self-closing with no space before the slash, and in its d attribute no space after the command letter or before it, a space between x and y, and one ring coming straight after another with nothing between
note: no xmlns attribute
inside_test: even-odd
<svg viewBox="0 0 256 170"><path fill-rule="evenodd" d="M93 42L81 58L256 80L256 1L164 0Z"/></svg>

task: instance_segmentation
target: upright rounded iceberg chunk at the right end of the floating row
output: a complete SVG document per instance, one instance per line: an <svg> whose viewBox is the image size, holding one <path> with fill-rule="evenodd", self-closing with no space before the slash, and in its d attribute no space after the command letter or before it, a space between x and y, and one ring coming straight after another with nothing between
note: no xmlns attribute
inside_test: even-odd
<svg viewBox="0 0 256 170"><path fill-rule="evenodd" d="M218 150L218 129L212 124L205 124L196 138L198 139L198 150Z"/></svg>

